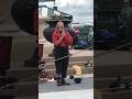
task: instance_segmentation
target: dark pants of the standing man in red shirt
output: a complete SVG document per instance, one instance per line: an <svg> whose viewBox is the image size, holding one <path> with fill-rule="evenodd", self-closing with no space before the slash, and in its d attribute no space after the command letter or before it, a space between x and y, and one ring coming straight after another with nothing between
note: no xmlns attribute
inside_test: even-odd
<svg viewBox="0 0 132 99"><path fill-rule="evenodd" d="M68 48L55 46L54 50L55 59L65 57L67 55L69 55ZM66 78L68 62L69 57L55 61L56 74L61 75L63 78Z"/></svg>

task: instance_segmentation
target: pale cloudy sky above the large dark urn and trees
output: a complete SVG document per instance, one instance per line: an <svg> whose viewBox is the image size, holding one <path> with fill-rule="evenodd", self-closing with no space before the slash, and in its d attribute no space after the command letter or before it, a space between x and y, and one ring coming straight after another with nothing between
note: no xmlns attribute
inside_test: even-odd
<svg viewBox="0 0 132 99"><path fill-rule="evenodd" d="M54 2L40 3L53 7ZM59 11L73 14L74 23L94 23L94 0L56 0L55 6Z"/></svg>

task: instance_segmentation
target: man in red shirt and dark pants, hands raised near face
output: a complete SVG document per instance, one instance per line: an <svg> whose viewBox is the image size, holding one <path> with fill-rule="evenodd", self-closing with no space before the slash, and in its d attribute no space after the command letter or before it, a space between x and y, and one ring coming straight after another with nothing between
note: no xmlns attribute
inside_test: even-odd
<svg viewBox="0 0 132 99"><path fill-rule="evenodd" d="M53 33L54 57L57 75L57 86L70 85L66 82L66 72L69 62L69 45L73 44L73 37L68 31L65 30L62 21L57 22L56 29Z"/></svg>

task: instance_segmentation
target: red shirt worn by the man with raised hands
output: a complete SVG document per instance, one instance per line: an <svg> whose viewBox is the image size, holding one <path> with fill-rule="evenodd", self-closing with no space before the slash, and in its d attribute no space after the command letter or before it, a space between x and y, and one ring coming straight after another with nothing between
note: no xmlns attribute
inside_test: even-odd
<svg viewBox="0 0 132 99"><path fill-rule="evenodd" d="M61 38L61 33L59 32L55 32L53 33L53 43L55 43L56 41L58 41ZM66 31L66 35L65 37L62 40L62 42L57 45L57 46L62 46L62 47L68 47L69 45L73 44L73 37L69 34L68 31Z"/></svg>

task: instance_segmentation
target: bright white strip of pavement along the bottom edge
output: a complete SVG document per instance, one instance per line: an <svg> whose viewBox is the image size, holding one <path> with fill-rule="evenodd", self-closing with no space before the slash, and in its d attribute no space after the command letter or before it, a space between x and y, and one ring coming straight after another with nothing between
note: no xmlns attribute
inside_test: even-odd
<svg viewBox="0 0 132 99"><path fill-rule="evenodd" d="M38 99L94 99L94 89L38 94Z"/></svg>

